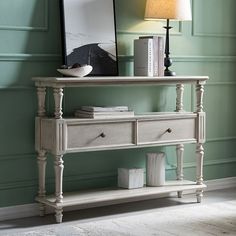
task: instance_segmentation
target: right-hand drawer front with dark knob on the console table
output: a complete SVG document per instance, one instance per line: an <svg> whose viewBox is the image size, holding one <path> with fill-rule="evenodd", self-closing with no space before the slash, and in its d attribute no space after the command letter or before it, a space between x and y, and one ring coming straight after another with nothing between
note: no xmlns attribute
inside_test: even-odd
<svg viewBox="0 0 236 236"><path fill-rule="evenodd" d="M138 143L174 142L196 138L196 120L139 121Z"/></svg>

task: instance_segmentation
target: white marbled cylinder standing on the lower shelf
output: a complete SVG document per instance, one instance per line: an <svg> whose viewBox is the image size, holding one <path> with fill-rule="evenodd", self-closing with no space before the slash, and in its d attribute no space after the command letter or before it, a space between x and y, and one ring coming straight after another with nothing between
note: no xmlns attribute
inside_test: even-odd
<svg viewBox="0 0 236 236"><path fill-rule="evenodd" d="M165 184L165 153L147 153L146 185L163 186Z"/></svg>

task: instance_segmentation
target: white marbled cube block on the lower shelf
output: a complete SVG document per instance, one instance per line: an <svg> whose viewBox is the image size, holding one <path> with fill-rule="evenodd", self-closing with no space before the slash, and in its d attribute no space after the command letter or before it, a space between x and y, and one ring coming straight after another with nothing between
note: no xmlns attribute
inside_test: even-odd
<svg viewBox="0 0 236 236"><path fill-rule="evenodd" d="M142 188L144 175L142 168L118 168L118 187L120 188Z"/></svg>

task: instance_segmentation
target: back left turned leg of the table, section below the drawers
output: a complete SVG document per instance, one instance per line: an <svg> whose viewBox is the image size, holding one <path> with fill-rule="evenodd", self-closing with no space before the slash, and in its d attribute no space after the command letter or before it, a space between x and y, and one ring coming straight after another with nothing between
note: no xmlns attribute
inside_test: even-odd
<svg viewBox="0 0 236 236"><path fill-rule="evenodd" d="M45 173L46 173L46 152L41 150L38 152L38 173L39 173L39 191L38 196L40 198L46 196L46 189L45 189ZM39 203L39 215L45 215L45 205L43 203Z"/></svg>

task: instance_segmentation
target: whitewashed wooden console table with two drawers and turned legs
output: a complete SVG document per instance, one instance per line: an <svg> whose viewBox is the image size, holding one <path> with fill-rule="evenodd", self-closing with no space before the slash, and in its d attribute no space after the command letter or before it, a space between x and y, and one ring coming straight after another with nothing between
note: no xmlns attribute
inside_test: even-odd
<svg viewBox="0 0 236 236"><path fill-rule="evenodd" d="M85 78L33 78L37 87L38 115L36 117L36 151L38 152L40 215L45 206L55 209L56 221L62 222L63 207L79 208L102 206L121 202L155 198L160 194L196 190L201 202L203 189L203 143L205 142L205 112L203 93L206 76L176 77L85 77ZM64 118L62 112L65 87L96 86L157 86L176 85L176 111L138 115L130 118L78 119ZM196 87L196 111L183 109L184 84ZM46 88L53 89L54 117L47 117L45 110ZM196 182L184 180L184 144L196 143ZM150 146L176 145L176 181L167 181L163 187L140 189L95 189L63 194L63 155L72 152L109 150ZM46 153L54 156L55 195L47 196L45 190Z"/></svg>

